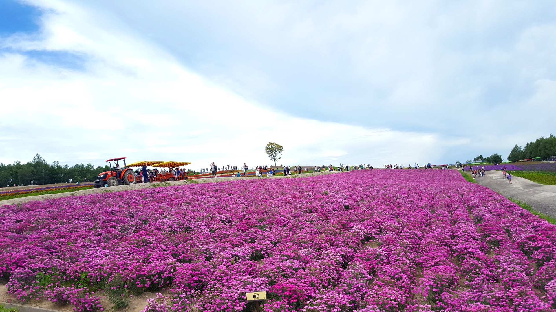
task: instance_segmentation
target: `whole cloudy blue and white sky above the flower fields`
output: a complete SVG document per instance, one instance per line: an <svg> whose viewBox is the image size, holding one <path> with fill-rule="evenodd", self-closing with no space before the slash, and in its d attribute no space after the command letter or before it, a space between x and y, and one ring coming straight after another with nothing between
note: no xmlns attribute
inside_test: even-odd
<svg viewBox="0 0 556 312"><path fill-rule="evenodd" d="M2 162L36 151L70 163L128 153L264 164L257 150L275 140L286 143L292 164L453 163L505 157L514 144L555 133L551 1L2 0L0 7L0 53L11 64L0 72L4 86L18 105L52 107L29 118L31 127L3 122ZM207 89L183 93L184 77ZM69 85L81 93L51 94ZM132 119L162 111L189 121L171 131L117 125L135 149L103 151L102 135L90 134L87 146L44 138L55 143L25 150L11 139L51 129L51 120L66 131L73 120L87 124L83 110L116 114L108 103ZM144 113L133 114L137 106ZM244 120L252 130L239 125ZM145 152L130 132L188 152Z"/></svg>

